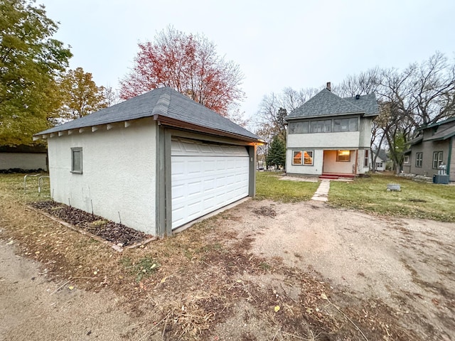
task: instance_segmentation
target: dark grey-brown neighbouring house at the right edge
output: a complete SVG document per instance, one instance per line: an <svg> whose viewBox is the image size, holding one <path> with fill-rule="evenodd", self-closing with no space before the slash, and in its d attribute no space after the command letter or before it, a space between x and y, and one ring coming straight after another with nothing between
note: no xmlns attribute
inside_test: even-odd
<svg viewBox="0 0 455 341"><path fill-rule="evenodd" d="M446 166L449 181L455 181L455 118L423 126L405 151L403 173L432 177Z"/></svg>

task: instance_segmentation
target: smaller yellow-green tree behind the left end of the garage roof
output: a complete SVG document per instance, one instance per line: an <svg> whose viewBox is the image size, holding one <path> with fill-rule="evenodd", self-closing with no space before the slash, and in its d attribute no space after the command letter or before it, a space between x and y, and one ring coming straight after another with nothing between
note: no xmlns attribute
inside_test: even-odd
<svg viewBox="0 0 455 341"><path fill-rule="evenodd" d="M68 70L61 81L63 105L60 119L79 119L108 106L105 87L98 87L82 67Z"/></svg>

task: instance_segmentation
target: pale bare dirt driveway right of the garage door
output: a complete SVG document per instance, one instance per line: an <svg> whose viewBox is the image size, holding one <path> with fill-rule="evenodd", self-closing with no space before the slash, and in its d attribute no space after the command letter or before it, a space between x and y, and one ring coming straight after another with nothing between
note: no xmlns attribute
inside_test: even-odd
<svg viewBox="0 0 455 341"><path fill-rule="evenodd" d="M252 216L258 205L276 217ZM384 301L414 321L422 340L455 340L455 224L373 217L320 202L251 201L232 214L244 217L232 228L255 239L256 254L314 269L360 300Z"/></svg>

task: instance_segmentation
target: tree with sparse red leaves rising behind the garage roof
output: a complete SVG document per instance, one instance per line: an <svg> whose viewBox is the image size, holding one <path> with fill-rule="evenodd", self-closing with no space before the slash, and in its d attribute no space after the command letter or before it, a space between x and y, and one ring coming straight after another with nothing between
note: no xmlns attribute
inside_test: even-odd
<svg viewBox="0 0 455 341"><path fill-rule="evenodd" d="M168 86L222 116L228 116L230 104L243 99L239 65L218 56L205 36L168 26L154 42L138 45L134 67L120 82L122 99Z"/></svg>

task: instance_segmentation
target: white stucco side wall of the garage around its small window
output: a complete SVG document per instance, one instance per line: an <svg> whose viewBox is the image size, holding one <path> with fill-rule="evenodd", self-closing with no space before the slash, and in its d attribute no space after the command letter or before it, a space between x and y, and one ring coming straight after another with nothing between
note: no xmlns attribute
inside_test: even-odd
<svg viewBox="0 0 455 341"><path fill-rule="evenodd" d="M71 173L71 148L82 147L82 174ZM156 235L156 124L133 121L48 139L53 199ZM120 217L119 217L120 216Z"/></svg>

